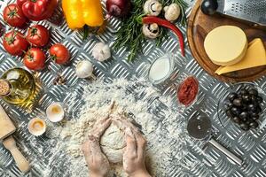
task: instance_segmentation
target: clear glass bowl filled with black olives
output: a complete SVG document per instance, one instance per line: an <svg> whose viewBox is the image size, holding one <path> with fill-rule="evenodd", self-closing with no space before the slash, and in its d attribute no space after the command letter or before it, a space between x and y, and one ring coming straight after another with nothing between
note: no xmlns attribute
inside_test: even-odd
<svg viewBox="0 0 266 177"><path fill-rule="evenodd" d="M256 131L263 121L265 100L266 94L254 83L231 85L219 99L218 118L223 127Z"/></svg>

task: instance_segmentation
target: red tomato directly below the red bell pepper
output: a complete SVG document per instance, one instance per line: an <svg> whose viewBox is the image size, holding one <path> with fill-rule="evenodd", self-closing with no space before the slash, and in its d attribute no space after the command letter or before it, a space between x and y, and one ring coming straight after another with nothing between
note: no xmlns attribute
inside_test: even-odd
<svg viewBox="0 0 266 177"><path fill-rule="evenodd" d="M26 39L35 47L43 47L49 42L49 31L42 25L29 27Z"/></svg>

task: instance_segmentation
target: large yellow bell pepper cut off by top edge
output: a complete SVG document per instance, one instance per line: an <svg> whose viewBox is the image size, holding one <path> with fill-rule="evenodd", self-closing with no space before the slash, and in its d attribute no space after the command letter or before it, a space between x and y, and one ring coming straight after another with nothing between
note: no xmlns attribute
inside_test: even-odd
<svg viewBox="0 0 266 177"><path fill-rule="evenodd" d="M62 8L66 23L71 29L84 25L101 27L104 23L100 0L62 0Z"/></svg>

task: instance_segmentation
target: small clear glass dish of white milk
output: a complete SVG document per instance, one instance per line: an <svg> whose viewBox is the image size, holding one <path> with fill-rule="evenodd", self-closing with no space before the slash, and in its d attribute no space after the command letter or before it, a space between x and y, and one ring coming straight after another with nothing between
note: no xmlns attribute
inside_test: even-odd
<svg viewBox="0 0 266 177"><path fill-rule="evenodd" d="M166 53L153 61L148 71L148 77L154 85L161 84L173 77L174 70L174 55L171 53Z"/></svg>

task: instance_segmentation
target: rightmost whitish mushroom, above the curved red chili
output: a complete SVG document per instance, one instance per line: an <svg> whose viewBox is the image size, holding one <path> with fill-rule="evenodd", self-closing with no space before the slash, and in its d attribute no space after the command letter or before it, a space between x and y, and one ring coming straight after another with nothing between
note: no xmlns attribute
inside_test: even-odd
<svg viewBox="0 0 266 177"><path fill-rule="evenodd" d="M170 4L163 8L164 18L168 21L175 21L180 15L180 7L178 4Z"/></svg>

